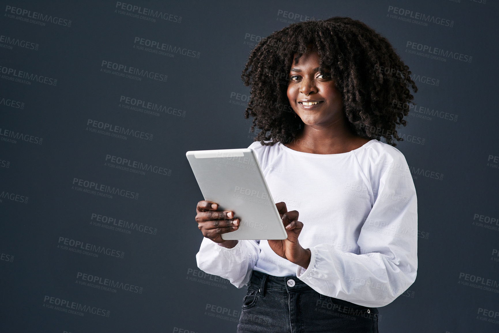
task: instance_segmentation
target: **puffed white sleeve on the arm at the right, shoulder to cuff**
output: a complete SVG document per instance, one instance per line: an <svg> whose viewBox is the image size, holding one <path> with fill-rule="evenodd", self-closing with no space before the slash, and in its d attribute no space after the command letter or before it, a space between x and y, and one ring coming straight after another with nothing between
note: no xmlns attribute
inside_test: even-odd
<svg viewBox="0 0 499 333"><path fill-rule="evenodd" d="M374 203L357 244L360 254L332 244L310 247L308 268L296 276L320 294L366 307L393 302L416 280L418 215L414 182L396 149L367 172Z"/></svg>

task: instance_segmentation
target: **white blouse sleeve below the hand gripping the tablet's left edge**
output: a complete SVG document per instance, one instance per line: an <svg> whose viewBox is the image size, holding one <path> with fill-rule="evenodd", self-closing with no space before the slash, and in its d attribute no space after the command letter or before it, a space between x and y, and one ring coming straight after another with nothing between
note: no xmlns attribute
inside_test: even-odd
<svg viewBox="0 0 499 333"><path fill-rule="evenodd" d="M206 273L218 275L242 288L250 281L259 253L258 241L240 240L234 248L228 249L203 238L196 262Z"/></svg>

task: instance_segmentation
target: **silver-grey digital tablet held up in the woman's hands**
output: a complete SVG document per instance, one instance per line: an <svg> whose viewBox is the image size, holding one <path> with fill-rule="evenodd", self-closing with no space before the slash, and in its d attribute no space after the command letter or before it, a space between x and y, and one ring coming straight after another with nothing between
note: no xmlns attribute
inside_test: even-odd
<svg viewBox="0 0 499 333"><path fill-rule="evenodd" d="M205 200L230 210L240 224L224 240L286 239L287 234L252 149L193 150L186 153Z"/></svg>

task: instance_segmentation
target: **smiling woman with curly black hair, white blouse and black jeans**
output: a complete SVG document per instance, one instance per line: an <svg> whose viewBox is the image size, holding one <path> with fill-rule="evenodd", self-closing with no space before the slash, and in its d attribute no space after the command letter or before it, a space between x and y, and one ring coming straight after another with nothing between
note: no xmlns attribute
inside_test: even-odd
<svg viewBox="0 0 499 333"><path fill-rule="evenodd" d="M293 23L251 52L249 148L288 237L224 241L237 212L200 201L196 215L198 267L249 286L238 332L378 332L377 307L415 281L417 197L394 147L417 91L408 69L349 17Z"/></svg>

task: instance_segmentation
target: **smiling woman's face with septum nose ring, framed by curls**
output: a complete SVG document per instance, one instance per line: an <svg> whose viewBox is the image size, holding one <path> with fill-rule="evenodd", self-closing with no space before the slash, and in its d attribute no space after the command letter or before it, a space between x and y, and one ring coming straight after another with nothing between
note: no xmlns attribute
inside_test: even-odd
<svg viewBox="0 0 499 333"><path fill-rule="evenodd" d="M316 51L305 53L297 64L294 64L295 57L296 54L287 86L287 98L294 112L310 126L327 127L343 123L341 93L327 73L319 72L319 54Z"/></svg>

